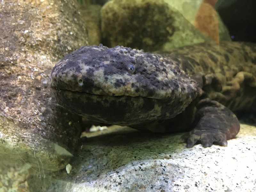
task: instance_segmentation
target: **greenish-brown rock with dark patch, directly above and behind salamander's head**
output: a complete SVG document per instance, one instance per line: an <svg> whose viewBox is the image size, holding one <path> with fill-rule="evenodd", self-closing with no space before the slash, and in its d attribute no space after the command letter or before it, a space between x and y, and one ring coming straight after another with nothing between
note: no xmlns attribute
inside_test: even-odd
<svg viewBox="0 0 256 192"><path fill-rule="evenodd" d="M101 9L103 44L145 51L211 41L164 0L113 0Z"/></svg>

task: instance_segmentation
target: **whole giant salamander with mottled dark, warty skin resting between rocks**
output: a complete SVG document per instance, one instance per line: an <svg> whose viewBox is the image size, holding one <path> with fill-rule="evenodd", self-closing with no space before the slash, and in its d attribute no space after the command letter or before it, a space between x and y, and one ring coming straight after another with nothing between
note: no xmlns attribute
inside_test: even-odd
<svg viewBox="0 0 256 192"><path fill-rule="evenodd" d="M249 43L162 54L86 46L56 64L49 84L60 105L88 120L154 132L194 128L182 138L187 147L226 146L240 127L231 110L255 106L255 61Z"/></svg>

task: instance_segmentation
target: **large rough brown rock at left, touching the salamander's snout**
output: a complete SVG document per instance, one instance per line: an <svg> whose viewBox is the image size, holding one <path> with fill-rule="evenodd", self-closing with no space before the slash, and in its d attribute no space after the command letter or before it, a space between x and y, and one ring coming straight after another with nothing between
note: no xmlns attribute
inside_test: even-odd
<svg viewBox="0 0 256 192"><path fill-rule="evenodd" d="M75 3L0 3L0 162L24 161L41 177L66 166L81 132L47 87L55 63L87 44Z"/></svg>

